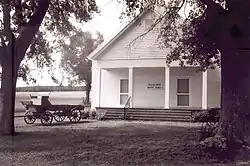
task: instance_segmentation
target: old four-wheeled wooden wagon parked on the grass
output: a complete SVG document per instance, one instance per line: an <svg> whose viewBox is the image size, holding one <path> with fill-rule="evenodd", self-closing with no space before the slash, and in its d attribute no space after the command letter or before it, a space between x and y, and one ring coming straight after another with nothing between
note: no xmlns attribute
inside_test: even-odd
<svg viewBox="0 0 250 166"><path fill-rule="evenodd" d="M84 105L53 105L49 101L49 96L41 96L41 104L34 104L32 101L21 101L26 112L24 121L26 124L35 123L40 119L43 125L50 125L53 119L62 122L67 117L70 122L77 123L81 120Z"/></svg>

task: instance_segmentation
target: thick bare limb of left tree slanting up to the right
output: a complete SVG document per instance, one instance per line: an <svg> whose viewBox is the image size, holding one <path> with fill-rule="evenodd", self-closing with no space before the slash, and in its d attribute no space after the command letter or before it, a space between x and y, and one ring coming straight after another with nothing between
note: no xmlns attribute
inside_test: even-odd
<svg viewBox="0 0 250 166"><path fill-rule="evenodd" d="M50 0L38 0L38 4L34 14L30 18L29 22L20 29L20 35L16 42L17 62L20 63L25 56L27 49L29 48L32 39L38 32L39 27L42 24L43 18L48 10Z"/></svg>

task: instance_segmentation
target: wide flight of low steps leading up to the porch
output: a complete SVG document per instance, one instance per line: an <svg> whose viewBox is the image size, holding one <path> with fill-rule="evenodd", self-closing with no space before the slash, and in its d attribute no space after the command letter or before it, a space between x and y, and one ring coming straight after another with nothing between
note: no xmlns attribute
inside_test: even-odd
<svg viewBox="0 0 250 166"><path fill-rule="evenodd" d="M97 108L97 111L105 111L103 120L123 119L123 108ZM170 110L170 109L129 109L126 113L127 120L152 120L152 121L174 121L190 122L191 110Z"/></svg>

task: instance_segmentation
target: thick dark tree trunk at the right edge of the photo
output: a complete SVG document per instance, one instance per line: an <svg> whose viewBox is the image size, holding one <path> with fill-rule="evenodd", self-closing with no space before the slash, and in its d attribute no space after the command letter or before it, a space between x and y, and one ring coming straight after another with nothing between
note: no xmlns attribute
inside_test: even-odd
<svg viewBox="0 0 250 166"><path fill-rule="evenodd" d="M221 59L221 106L217 135L227 144L244 141L249 133L250 54L248 50L227 50Z"/></svg>

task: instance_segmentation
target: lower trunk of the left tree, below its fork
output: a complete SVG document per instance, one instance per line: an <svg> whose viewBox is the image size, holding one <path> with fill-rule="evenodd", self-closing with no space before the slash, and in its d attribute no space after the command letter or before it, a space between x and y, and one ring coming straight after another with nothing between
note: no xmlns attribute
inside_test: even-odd
<svg viewBox="0 0 250 166"><path fill-rule="evenodd" d="M14 43L7 46L4 53L0 93L0 135L14 135L16 81L20 63L16 62Z"/></svg>

